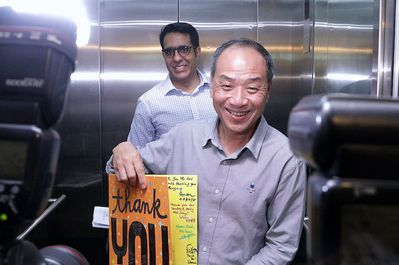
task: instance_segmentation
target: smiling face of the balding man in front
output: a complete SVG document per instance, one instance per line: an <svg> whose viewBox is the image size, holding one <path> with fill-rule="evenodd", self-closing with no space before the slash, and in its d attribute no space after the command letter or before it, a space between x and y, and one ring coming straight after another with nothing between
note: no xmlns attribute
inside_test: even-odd
<svg viewBox="0 0 399 265"><path fill-rule="evenodd" d="M230 47L217 61L210 96L219 115L219 133L251 137L269 98L271 82L262 55L250 47Z"/></svg>

